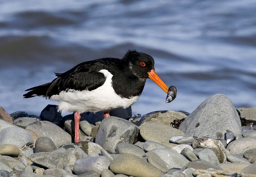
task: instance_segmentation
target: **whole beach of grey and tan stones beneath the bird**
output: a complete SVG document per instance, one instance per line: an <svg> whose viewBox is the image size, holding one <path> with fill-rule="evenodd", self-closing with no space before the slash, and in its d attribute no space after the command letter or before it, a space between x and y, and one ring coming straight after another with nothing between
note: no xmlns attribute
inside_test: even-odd
<svg viewBox="0 0 256 177"><path fill-rule="evenodd" d="M56 105L40 115L0 107L0 176L256 176L256 107L235 108L215 94L191 113L133 116L130 107L110 115L83 113L88 141L74 143L74 114L63 117Z"/></svg>

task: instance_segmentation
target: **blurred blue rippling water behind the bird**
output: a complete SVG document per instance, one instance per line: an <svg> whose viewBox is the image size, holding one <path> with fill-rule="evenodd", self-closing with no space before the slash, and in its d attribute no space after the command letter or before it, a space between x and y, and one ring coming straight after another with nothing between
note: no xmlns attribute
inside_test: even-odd
<svg viewBox="0 0 256 177"><path fill-rule="evenodd" d="M256 1L0 0L0 105L39 115L42 97L24 90L50 82L80 62L150 54L156 73L177 88L166 94L151 80L132 106L192 112L215 93L236 108L256 106Z"/></svg>

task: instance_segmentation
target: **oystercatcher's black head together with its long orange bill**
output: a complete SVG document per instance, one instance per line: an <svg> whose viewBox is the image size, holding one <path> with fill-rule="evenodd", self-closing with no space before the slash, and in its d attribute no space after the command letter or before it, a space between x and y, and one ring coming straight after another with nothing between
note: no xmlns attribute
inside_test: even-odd
<svg viewBox="0 0 256 177"><path fill-rule="evenodd" d="M146 81L147 78L150 78L166 93L168 92L168 86L155 73L155 61L150 55L136 50L128 50L123 59L128 63L131 72L138 79Z"/></svg>

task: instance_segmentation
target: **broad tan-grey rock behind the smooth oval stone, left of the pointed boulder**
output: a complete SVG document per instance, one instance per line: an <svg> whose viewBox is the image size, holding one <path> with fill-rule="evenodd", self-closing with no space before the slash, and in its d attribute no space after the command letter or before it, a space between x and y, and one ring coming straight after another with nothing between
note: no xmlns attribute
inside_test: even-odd
<svg viewBox="0 0 256 177"><path fill-rule="evenodd" d="M173 111L173 110L162 110L155 111L142 116L140 121L137 123L138 126L141 126L144 122L149 122L151 119L158 119L161 124L170 126L170 123L174 120L180 120L187 117L186 114Z"/></svg>

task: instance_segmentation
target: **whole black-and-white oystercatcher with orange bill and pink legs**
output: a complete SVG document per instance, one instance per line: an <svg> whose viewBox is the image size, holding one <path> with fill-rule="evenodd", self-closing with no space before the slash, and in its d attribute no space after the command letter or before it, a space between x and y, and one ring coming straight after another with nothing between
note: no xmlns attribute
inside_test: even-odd
<svg viewBox="0 0 256 177"><path fill-rule="evenodd" d="M76 65L57 76L52 82L27 89L24 98L49 97L58 101L58 111L75 112L75 142L79 142L80 114L127 108L141 95L147 78L152 79L166 93L168 86L154 71L154 59L129 50L122 59L101 58Z"/></svg>

